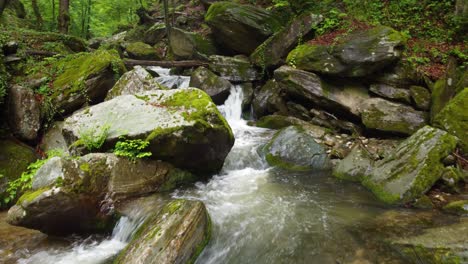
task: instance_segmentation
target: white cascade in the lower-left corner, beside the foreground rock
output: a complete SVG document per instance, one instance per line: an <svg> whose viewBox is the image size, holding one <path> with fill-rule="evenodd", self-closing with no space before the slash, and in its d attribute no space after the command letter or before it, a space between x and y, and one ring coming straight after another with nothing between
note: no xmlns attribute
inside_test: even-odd
<svg viewBox="0 0 468 264"><path fill-rule="evenodd" d="M145 217L136 209L130 216L123 216L108 239L98 240L88 237L79 240L68 249L49 249L40 251L28 258L18 260L19 264L99 264L106 263L129 243L132 235L143 223Z"/></svg>

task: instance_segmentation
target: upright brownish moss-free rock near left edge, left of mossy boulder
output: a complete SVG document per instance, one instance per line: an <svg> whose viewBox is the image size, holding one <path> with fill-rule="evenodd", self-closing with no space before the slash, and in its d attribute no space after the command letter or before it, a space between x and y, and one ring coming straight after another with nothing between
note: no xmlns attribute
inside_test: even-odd
<svg viewBox="0 0 468 264"><path fill-rule="evenodd" d="M20 139L33 141L41 128L41 103L31 89L13 85L9 89L8 121Z"/></svg>

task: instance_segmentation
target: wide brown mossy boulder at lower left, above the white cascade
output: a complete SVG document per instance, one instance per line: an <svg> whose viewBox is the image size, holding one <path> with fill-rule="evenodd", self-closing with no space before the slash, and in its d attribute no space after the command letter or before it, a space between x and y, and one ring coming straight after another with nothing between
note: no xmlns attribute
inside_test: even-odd
<svg viewBox="0 0 468 264"><path fill-rule="evenodd" d="M109 231L115 221L114 202L195 180L161 161L131 161L104 153L54 157L36 172L32 190L10 209L8 222L51 234ZM112 199L108 193L113 193Z"/></svg>

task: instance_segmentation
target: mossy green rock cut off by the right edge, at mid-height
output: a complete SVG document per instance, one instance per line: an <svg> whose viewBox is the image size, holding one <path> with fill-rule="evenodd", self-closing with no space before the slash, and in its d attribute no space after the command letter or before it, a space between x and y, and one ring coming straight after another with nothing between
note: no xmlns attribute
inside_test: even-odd
<svg viewBox="0 0 468 264"><path fill-rule="evenodd" d="M468 153L468 89L457 94L435 116L433 123L457 136L463 151Z"/></svg>

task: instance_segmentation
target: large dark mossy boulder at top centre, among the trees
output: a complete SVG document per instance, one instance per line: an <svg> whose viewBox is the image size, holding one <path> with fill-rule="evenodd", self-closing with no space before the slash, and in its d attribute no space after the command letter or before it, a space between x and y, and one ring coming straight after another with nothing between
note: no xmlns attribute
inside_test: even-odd
<svg viewBox="0 0 468 264"><path fill-rule="evenodd" d="M283 25L265 9L235 2L217 2L210 6L205 22L213 36L233 53L250 55Z"/></svg>

